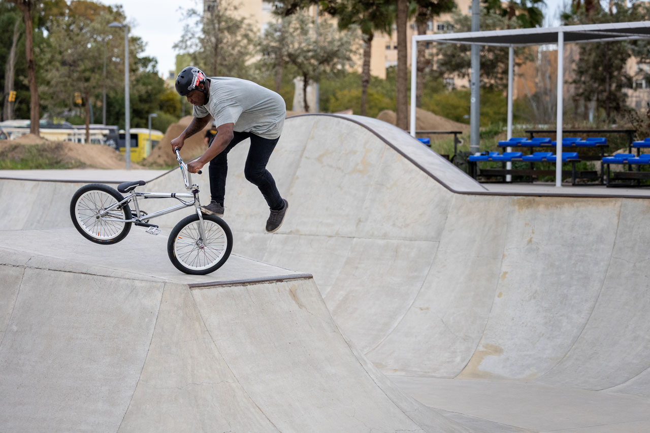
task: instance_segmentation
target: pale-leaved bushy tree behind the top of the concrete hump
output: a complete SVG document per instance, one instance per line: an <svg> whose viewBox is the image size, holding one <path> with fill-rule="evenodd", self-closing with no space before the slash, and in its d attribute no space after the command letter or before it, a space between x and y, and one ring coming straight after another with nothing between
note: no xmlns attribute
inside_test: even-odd
<svg viewBox="0 0 650 433"><path fill-rule="evenodd" d="M315 41L314 23L309 13L301 10L285 19L286 28L283 55L303 79L304 107L307 104L307 85L320 77L335 75L352 66L352 55L356 49L356 34L353 30L339 32L326 21L318 26L318 44ZM261 43L262 47L277 44L278 31L270 25Z"/></svg>

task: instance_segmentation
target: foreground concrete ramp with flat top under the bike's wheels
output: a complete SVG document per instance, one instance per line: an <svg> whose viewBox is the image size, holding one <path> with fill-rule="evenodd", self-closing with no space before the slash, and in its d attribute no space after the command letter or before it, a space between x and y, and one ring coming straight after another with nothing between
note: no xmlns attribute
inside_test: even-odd
<svg viewBox="0 0 650 433"><path fill-rule="evenodd" d="M467 431L356 353L310 275L185 276L165 241L0 232L3 431Z"/></svg>

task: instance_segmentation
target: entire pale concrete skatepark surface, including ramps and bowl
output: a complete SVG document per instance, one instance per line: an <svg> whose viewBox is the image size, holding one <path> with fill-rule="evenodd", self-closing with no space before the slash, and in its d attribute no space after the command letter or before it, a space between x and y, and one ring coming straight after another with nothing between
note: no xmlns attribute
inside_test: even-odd
<svg viewBox="0 0 650 433"><path fill-rule="evenodd" d="M166 257L182 212L100 246L68 206L106 177L0 179L0 425L650 430L646 192L490 190L384 122L296 116L269 235L247 151L229 154L235 254L209 276Z"/></svg>

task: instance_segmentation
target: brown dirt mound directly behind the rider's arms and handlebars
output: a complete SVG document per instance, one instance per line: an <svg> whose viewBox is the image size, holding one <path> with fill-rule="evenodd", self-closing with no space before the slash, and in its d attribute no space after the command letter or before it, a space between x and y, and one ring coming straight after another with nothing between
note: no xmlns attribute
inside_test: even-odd
<svg viewBox="0 0 650 433"><path fill-rule="evenodd" d="M169 125L162 140L151 151L151 155L142 161L142 163L150 167L174 166L176 164L176 157L174 156L174 153L172 153L171 142L174 138L178 137L183 131L185 131L185 128L187 128L190 122L192 122L192 119L192 116L185 116L177 123ZM205 128L203 128L203 131L200 131L185 140L183 150L181 150L181 155L185 161L191 161L203 154L206 149L205 144L203 143L203 137L205 137L205 131L210 129L210 125L211 124L207 124Z"/></svg>

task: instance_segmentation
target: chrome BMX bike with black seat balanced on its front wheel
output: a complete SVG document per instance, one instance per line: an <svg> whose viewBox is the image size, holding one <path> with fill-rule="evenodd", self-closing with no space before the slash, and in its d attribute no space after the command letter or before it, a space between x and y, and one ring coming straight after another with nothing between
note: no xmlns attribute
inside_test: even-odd
<svg viewBox="0 0 650 433"><path fill-rule="evenodd" d="M180 220L172 229L167 241L167 254L172 264L186 274L209 274L226 263L233 248L233 235L222 218L201 213L198 185L192 183L192 174L188 172L178 148L174 148L174 153L185 189L189 192L136 191L136 187L146 185L145 181L123 182L117 190L102 183L90 183L72 196L72 224L89 241L110 245L122 241L131 231L131 225L144 227L147 233L158 235L161 230L157 225L149 224L149 220L194 207L194 213ZM138 199L141 202L151 198L175 198L181 203L148 214L140 210Z"/></svg>

